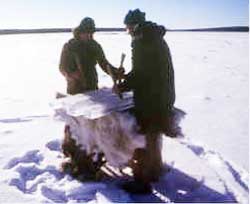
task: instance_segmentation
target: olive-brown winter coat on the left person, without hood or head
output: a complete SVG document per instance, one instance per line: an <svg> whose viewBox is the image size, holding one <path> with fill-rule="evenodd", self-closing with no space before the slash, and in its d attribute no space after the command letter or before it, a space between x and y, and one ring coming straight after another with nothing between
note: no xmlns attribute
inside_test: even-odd
<svg viewBox="0 0 250 204"><path fill-rule="evenodd" d="M95 40L85 42L71 39L63 46L60 71L79 75L74 80L67 80L69 94L98 89L97 63L108 73L107 65L110 64L105 58L101 45ZM114 68L112 65L110 66L112 69Z"/></svg>

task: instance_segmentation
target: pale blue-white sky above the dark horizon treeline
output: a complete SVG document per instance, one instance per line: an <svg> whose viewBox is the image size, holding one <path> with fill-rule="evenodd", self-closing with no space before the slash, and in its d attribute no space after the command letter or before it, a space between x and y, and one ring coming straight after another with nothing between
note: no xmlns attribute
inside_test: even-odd
<svg viewBox="0 0 250 204"><path fill-rule="evenodd" d="M0 29L73 28L86 16L97 27L124 27L136 8L170 29L249 24L248 0L0 0Z"/></svg>

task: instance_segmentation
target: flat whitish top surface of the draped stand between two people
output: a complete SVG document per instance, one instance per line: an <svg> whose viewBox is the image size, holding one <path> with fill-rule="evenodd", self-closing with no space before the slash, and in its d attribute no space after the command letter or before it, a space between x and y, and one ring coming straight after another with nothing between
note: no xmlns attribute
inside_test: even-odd
<svg viewBox="0 0 250 204"><path fill-rule="evenodd" d="M86 119L98 119L116 111L123 111L134 106L132 92L122 94L120 99L110 88L102 88L89 91L84 94L76 94L60 98L51 103L55 111L64 110L66 114Z"/></svg>

